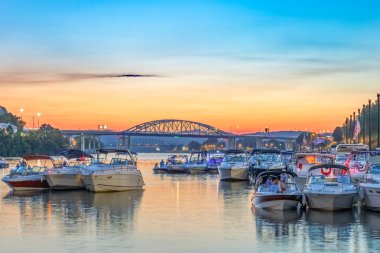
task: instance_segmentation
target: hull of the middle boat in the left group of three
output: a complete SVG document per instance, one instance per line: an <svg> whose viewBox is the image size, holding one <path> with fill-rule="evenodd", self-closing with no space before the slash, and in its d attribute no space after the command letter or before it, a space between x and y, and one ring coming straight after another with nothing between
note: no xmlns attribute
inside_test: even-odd
<svg viewBox="0 0 380 253"><path fill-rule="evenodd" d="M48 174L44 176L54 190L85 189L81 174Z"/></svg>

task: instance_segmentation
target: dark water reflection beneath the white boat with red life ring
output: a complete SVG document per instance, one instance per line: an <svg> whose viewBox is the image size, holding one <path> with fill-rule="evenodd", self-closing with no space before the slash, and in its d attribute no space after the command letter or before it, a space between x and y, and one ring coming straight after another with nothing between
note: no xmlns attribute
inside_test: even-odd
<svg viewBox="0 0 380 253"><path fill-rule="evenodd" d="M308 209L306 222L318 225L349 226L355 222L354 210L326 212Z"/></svg>

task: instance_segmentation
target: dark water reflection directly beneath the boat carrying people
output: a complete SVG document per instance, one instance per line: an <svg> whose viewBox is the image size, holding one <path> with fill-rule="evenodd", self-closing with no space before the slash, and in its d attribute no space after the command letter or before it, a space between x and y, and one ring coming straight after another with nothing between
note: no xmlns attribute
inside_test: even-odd
<svg viewBox="0 0 380 253"><path fill-rule="evenodd" d="M263 208L252 208L257 218L274 223L295 223L302 217L302 210L268 210Z"/></svg>

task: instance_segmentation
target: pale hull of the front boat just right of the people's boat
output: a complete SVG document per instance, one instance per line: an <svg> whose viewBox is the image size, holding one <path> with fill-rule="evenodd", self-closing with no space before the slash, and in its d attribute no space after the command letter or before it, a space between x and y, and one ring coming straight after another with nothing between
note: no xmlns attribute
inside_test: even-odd
<svg viewBox="0 0 380 253"><path fill-rule="evenodd" d="M306 203L310 209L338 211L351 209L357 193L312 193L306 192Z"/></svg>

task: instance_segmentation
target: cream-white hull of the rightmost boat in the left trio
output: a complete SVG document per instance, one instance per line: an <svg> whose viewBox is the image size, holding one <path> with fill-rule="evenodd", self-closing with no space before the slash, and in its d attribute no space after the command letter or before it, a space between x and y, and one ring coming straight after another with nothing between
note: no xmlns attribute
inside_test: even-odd
<svg viewBox="0 0 380 253"><path fill-rule="evenodd" d="M141 173L90 174L83 175L87 190L92 192L128 191L142 189L144 181Z"/></svg>

